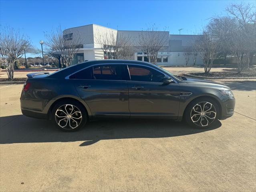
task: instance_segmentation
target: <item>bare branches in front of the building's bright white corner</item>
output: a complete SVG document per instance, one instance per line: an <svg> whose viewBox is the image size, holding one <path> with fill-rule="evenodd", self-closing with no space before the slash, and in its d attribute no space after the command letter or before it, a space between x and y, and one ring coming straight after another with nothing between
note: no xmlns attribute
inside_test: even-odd
<svg viewBox="0 0 256 192"><path fill-rule="evenodd" d="M117 31L98 32L95 42L100 45L106 59L131 59L134 55L131 36Z"/></svg>

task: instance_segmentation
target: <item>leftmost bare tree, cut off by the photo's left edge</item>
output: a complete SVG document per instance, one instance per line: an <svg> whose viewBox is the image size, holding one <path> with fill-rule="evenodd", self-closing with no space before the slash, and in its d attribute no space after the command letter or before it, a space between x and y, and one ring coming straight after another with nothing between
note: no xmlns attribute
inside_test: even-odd
<svg viewBox="0 0 256 192"><path fill-rule="evenodd" d="M27 53L33 52L34 48L28 37L20 34L19 30L5 27L0 31L0 54L10 80L14 78L14 63L23 56L25 50Z"/></svg>

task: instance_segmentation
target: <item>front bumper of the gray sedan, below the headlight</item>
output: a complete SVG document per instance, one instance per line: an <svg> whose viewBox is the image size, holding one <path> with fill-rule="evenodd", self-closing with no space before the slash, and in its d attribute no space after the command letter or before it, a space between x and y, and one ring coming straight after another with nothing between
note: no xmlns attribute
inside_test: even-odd
<svg viewBox="0 0 256 192"><path fill-rule="evenodd" d="M226 97L222 102L222 115L220 120L231 117L234 114L236 100L234 97Z"/></svg>

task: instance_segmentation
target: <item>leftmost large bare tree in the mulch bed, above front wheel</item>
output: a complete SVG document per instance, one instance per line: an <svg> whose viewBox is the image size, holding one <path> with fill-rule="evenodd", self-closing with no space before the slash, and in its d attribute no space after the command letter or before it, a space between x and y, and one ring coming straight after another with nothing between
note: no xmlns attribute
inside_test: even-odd
<svg viewBox="0 0 256 192"><path fill-rule="evenodd" d="M195 48L203 60L205 74L209 74L214 60L221 52L218 42L208 32L204 31L196 40Z"/></svg>

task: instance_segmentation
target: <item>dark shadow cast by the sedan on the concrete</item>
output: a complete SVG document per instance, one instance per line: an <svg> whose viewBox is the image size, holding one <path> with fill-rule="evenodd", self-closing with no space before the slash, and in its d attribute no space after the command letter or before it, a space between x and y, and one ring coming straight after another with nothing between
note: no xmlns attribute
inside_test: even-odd
<svg viewBox="0 0 256 192"><path fill-rule="evenodd" d="M75 142L88 146L100 140L127 138L166 138L196 134L219 128L194 129L171 120L101 120L88 122L76 132L62 132L47 120L23 115L0 117L0 144L33 142Z"/></svg>

